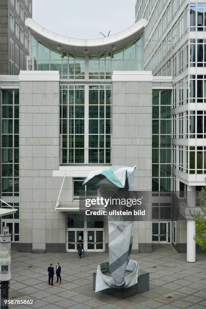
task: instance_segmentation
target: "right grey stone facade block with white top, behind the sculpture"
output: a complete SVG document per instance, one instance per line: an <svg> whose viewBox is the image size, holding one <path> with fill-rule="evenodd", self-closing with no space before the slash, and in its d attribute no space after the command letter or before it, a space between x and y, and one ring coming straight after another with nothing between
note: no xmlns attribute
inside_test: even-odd
<svg viewBox="0 0 206 309"><path fill-rule="evenodd" d="M113 72L113 164L135 166L133 190L151 191L152 72ZM150 222L134 222L132 252L151 252Z"/></svg>

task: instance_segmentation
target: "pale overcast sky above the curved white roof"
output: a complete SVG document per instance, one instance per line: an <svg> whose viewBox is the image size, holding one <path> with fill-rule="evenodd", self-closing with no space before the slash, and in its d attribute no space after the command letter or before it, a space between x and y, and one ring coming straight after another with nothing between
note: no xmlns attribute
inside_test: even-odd
<svg viewBox="0 0 206 309"><path fill-rule="evenodd" d="M33 19L75 38L102 37L134 24L135 0L33 0ZM58 4L58 5L57 5Z"/></svg>

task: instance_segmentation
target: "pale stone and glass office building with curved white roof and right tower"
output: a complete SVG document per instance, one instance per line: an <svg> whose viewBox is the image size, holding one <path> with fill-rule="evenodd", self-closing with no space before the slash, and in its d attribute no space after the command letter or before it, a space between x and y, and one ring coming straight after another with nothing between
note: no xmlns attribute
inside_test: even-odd
<svg viewBox="0 0 206 309"><path fill-rule="evenodd" d="M20 202L21 251L75 251L80 239L88 251L107 251L107 220L79 212L79 196L90 190L82 183L92 170L137 165L134 189L152 191L152 221L134 223L133 250L172 243L195 261L188 209L204 185L206 146L204 62L197 56L204 55L204 4L199 8L199 2L137 1L134 25L87 40L26 20L28 70L1 78L2 106L13 108L3 115L2 188L8 201ZM170 191L177 191L176 216Z"/></svg>

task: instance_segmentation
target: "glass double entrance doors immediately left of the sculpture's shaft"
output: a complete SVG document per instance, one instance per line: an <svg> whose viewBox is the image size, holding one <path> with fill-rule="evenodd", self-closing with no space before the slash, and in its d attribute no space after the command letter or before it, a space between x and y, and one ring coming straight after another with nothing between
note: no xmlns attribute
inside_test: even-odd
<svg viewBox="0 0 206 309"><path fill-rule="evenodd" d="M104 230L87 230L87 251L104 251Z"/></svg>

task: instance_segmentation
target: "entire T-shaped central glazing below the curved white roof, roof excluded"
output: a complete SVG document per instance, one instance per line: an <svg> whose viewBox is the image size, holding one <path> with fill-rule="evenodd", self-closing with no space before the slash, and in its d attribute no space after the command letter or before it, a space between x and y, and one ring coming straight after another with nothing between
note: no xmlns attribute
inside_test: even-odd
<svg viewBox="0 0 206 309"><path fill-rule="evenodd" d="M36 70L61 75L60 164L111 164L112 72L142 70L142 37L100 55L72 55L32 37L31 56Z"/></svg>

